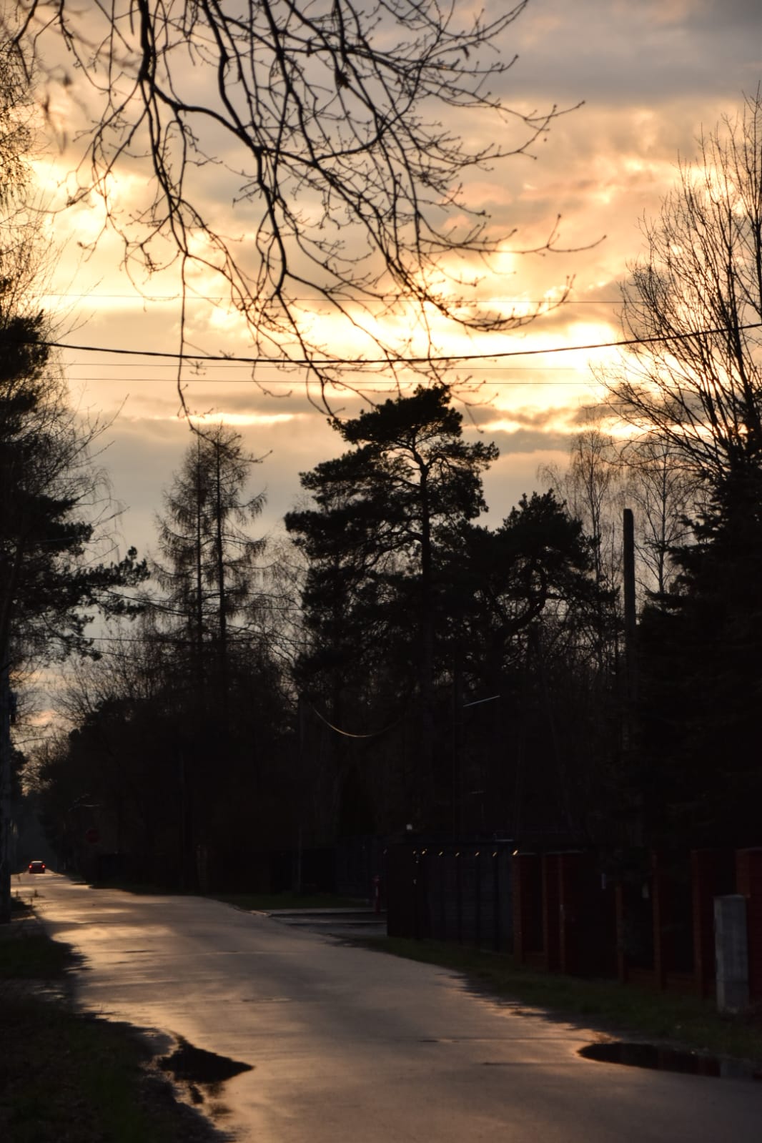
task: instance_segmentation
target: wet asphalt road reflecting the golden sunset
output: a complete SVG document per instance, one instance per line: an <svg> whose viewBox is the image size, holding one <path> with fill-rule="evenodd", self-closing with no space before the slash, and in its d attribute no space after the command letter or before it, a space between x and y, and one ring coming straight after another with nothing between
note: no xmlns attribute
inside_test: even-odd
<svg viewBox="0 0 762 1143"><path fill-rule="evenodd" d="M200 897L21 881L83 956L85 1009L251 1065L207 1103L242 1143L762 1138L762 1085L583 1060L595 1033L448 970Z"/></svg>

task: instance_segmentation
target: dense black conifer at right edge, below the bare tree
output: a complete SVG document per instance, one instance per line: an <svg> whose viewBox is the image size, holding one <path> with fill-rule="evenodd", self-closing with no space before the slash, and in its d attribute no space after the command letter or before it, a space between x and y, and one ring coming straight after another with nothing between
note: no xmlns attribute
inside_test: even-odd
<svg viewBox="0 0 762 1143"><path fill-rule="evenodd" d="M641 749L661 842L755 845L762 766L762 473L713 493L640 628Z"/></svg>

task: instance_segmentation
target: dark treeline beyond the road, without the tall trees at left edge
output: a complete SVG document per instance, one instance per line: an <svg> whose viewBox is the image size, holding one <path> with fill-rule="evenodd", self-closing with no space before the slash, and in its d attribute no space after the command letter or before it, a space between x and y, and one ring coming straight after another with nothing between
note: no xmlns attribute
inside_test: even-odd
<svg viewBox="0 0 762 1143"><path fill-rule="evenodd" d="M665 480L666 449L623 454L589 429L554 487L488 527L497 450L464 439L444 387L335 426L347 449L302 475L308 498L270 551L238 434L192 440L158 520L157 589L72 672L74 728L37 760L70 861L93 822L143 876L228 888L258 855L408 825L611 849L755 839L754 676L731 640L755 637L760 581L725 592L740 565L722 504L689 526L699 487ZM659 552L656 535L680 543Z"/></svg>

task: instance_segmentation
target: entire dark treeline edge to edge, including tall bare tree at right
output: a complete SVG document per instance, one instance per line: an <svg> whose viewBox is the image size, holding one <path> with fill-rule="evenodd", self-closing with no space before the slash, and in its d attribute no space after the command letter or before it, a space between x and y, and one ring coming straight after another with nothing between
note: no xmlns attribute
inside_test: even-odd
<svg viewBox="0 0 762 1143"><path fill-rule="evenodd" d="M70 729L16 757L62 860L97 836L135 876L232 888L260 854L408 828L760 841L761 143L757 97L680 168L605 399L489 523L497 448L435 381L332 417L343 451L302 474L278 542L240 435L196 425L154 558L94 562L97 427L66 411L5 274L3 663L19 680L81 653Z"/></svg>

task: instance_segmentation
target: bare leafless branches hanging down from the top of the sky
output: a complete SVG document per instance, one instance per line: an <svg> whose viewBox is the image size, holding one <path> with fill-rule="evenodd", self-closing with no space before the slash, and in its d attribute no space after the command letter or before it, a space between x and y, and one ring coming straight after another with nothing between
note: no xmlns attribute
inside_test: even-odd
<svg viewBox="0 0 762 1143"><path fill-rule="evenodd" d="M340 355L337 318L394 370L412 338L433 345L435 321L505 330L566 297L569 283L529 312L467 302L506 235L464 179L529 154L561 114L492 90L527 2L487 18L456 0L31 0L15 43L30 67L65 45L48 86L87 89L93 117L72 198L103 197L133 275L178 258L184 291L220 275L257 354L311 361L326 403L327 384L348 384L323 363ZM466 117L494 142L464 143ZM145 197L120 209L125 174ZM216 217L226 198L234 234ZM556 242L553 226L540 249Z"/></svg>

